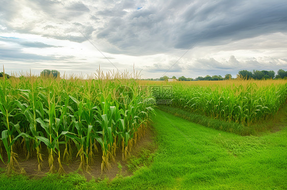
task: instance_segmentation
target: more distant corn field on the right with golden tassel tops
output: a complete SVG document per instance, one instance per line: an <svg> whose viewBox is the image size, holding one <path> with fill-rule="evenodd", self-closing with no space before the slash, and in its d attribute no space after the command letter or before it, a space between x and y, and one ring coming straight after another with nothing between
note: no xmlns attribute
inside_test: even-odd
<svg viewBox="0 0 287 190"><path fill-rule="evenodd" d="M161 85L173 87L172 104L168 106L244 125L274 116L287 98L286 80L192 81Z"/></svg>

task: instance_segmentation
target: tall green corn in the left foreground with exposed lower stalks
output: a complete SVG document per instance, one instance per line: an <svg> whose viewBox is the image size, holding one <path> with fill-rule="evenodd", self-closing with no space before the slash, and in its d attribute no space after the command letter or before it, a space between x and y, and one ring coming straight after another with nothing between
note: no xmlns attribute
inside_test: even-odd
<svg viewBox="0 0 287 190"><path fill-rule="evenodd" d="M134 92L125 103L114 93L122 85ZM116 154L127 158L154 114L153 105L144 101L149 97L139 97L136 86L136 80L100 72L87 80L0 78L0 159L8 171L16 170L18 153L23 152L27 160L37 157L39 171L49 162L50 172L55 172L57 162L62 174L62 163L76 158L79 169L89 171L101 153L102 171L109 169Z"/></svg>

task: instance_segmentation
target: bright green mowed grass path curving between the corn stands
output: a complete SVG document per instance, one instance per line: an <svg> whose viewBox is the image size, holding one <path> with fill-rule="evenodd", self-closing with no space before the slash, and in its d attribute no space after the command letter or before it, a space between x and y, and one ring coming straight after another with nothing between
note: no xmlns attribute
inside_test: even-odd
<svg viewBox="0 0 287 190"><path fill-rule="evenodd" d="M287 129L238 136L157 111L153 164L134 176L86 182L78 174L40 180L0 176L2 189L286 189ZM285 123L286 124L286 123Z"/></svg>

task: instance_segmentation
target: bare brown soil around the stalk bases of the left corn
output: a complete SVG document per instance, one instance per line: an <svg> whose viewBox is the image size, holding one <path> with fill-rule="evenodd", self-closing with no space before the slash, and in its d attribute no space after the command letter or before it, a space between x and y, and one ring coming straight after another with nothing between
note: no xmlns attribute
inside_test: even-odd
<svg viewBox="0 0 287 190"><path fill-rule="evenodd" d="M131 155L137 156L142 148L149 148L151 144L154 142L155 134L152 129L148 128L145 132L145 136L141 138L135 145L135 147L132 148ZM108 171L104 171L101 173L101 163L102 163L102 151L100 148L99 153L94 155L93 159L93 164L90 164L90 171L86 172L85 169L83 170L78 170L79 164L80 164L80 159L79 157L75 159L77 150L73 151L73 158L74 160L71 161L70 164L66 164L65 162L62 162L62 166L65 170L65 173L71 173L71 172L78 172L79 174L82 174L86 177L87 180L90 180L91 178L98 179L98 178L104 178L108 177L109 179L113 179L116 177L116 174L118 174L119 169L118 169L118 164L120 163L122 165L122 172L121 174L123 176L130 176L132 175L132 172L128 170L127 167L127 161L122 161L122 152L117 151L116 153L116 162L111 163L111 169ZM61 151L63 152L63 151ZM23 173L30 178L41 178L47 175L47 173L50 170L49 163L48 163L48 152L45 146L42 146L42 158L43 158L43 168L41 172L38 172L38 162L37 162L37 156L36 153L33 153L33 156L30 157L30 159L26 160L25 154L21 151L18 150L16 151L18 154L18 163L19 167L17 167L17 173ZM4 161L7 161L7 154L3 153ZM61 158L62 159L62 158ZM55 171L58 171L59 169L59 164L58 164L58 156L54 156L54 166L55 166ZM6 168L6 165L1 161L0 162L0 168ZM55 172L56 173L56 172Z"/></svg>

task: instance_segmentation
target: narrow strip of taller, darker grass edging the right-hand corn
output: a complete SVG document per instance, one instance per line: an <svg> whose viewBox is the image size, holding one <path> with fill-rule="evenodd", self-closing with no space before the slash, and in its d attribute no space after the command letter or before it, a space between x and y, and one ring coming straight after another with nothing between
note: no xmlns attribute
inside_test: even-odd
<svg viewBox="0 0 287 190"><path fill-rule="evenodd" d="M237 135L254 135L255 134L255 131L252 130L252 128L248 128L247 126L243 124L235 123L233 121L226 122L226 121L221 121L218 119L212 119L204 115L194 114L194 113L184 111L180 108L174 108L174 107L169 107L169 106L164 106L164 105L158 105L158 109L174 114L183 119L187 119L189 121L201 124L203 126L207 126L208 128L235 133Z"/></svg>

